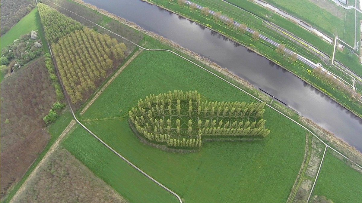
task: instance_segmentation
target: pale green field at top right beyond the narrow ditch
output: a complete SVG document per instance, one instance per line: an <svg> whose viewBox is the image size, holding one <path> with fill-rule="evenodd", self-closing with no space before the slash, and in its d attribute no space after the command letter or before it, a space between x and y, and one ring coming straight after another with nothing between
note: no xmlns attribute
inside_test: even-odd
<svg viewBox="0 0 362 203"><path fill-rule="evenodd" d="M289 0L266 0L266 2L277 8L285 10L292 16L311 24L312 26L315 26L317 30L322 31L330 37L333 37L333 35L344 35L345 18L338 17L338 14L332 14L328 10L317 6L311 1L295 0L292 4ZM344 14L345 10L338 7L338 12L340 14ZM352 32L352 30L350 30L350 32Z"/></svg>

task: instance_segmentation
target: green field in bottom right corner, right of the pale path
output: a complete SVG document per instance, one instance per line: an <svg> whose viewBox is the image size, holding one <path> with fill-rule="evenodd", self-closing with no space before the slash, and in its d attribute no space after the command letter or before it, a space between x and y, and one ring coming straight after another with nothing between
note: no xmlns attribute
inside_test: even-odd
<svg viewBox="0 0 362 203"><path fill-rule="evenodd" d="M361 184L362 174L328 149L312 195L323 195L333 202L361 202Z"/></svg>

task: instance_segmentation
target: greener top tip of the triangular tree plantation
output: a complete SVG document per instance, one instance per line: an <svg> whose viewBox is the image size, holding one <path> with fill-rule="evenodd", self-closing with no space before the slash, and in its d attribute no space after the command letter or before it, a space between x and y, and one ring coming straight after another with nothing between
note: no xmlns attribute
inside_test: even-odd
<svg viewBox="0 0 362 203"><path fill-rule="evenodd" d="M79 22L64 16L45 4L38 3L38 7L46 39L51 44L57 43L63 36L83 27Z"/></svg>

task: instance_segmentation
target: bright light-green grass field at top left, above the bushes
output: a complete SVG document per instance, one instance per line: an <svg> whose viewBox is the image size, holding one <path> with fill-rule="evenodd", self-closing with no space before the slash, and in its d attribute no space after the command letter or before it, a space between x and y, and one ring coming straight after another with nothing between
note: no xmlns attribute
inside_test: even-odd
<svg viewBox="0 0 362 203"><path fill-rule="evenodd" d="M49 47L46 44L45 35L41 27L40 16L38 9L35 7L29 14L16 23L7 33L0 38L0 52L1 50L13 43L14 40L19 39L20 35L30 33L31 30L38 30L38 34L42 40L44 53L49 52ZM0 81L3 81L5 75L0 73Z"/></svg>

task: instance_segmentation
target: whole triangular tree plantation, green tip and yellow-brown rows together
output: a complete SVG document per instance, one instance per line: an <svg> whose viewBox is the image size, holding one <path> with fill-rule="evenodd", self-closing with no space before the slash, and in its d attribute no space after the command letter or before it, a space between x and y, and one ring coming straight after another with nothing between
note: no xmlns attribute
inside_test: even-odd
<svg viewBox="0 0 362 203"><path fill-rule="evenodd" d="M45 4L38 6L60 79L71 102L80 102L121 63L127 47Z"/></svg>

